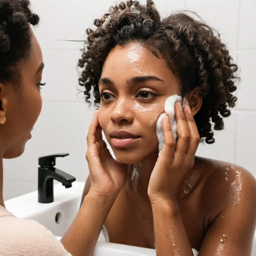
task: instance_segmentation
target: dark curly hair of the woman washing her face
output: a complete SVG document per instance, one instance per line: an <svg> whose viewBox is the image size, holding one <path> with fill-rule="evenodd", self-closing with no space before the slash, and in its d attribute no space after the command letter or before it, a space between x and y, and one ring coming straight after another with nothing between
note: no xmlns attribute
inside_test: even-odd
<svg viewBox="0 0 256 256"><path fill-rule="evenodd" d="M200 137L208 144L215 142L211 122L215 130L224 128L222 117L230 115L227 107L234 107L237 101L231 93L237 89L234 81L239 79L235 74L238 67L217 31L186 12L175 12L161 20L151 0L146 5L121 2L110 7L101 19L95 19L94 25L98 27L95 31L86 30L88 38L78 63L83 68L79 84L85 87L87 102L92 88L94 94L99 93L98 82L110 50L139 41L155 56L164 58L180 82L182 96L200 87L203 101L195 121ZM94 103L99 102L95 97Z"/></svg>

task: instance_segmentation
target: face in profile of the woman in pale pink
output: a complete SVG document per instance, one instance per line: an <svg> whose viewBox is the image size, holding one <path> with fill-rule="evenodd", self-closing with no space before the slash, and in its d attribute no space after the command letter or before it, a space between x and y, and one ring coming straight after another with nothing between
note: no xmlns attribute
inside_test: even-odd
<svg viewBox="0 0 256 256"><path fill-rule="evenodd" d="M31 33L30 56L17 67L19 85L0 83L0 118L6 118L6 122L0 125L0 146L4 158L18 157L24 152L42 107L39 84L44 64L41 48Z"/></svg>

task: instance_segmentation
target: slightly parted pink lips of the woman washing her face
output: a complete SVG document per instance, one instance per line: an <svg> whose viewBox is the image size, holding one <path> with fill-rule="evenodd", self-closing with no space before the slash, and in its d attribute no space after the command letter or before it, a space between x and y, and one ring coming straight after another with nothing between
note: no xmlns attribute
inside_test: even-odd
<svg viewBox="0 0 256 256"><path fill-rule="evenodd" d="M113 147L125 148L138 141L140 136L125 130L112 131L110 134Z"/></svg>

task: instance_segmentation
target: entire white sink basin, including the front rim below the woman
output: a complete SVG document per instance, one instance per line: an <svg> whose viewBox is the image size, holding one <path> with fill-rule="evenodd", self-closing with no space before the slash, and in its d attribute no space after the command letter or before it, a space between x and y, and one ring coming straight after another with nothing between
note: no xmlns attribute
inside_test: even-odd
<svg viewBox="0 0 256 256"><path fill-rule="evenodd" d="M40 204L37 191L5 201L6 209L16 217L33 219L47 227L60 239L67 231L80 207L84 183L74 182L66 189L62 184L54 186L54 202ZM156 256L155 250L106 243L103 235L99 237L93 256ZM252 256L256 256L256 239L254 237Z"/></svg>

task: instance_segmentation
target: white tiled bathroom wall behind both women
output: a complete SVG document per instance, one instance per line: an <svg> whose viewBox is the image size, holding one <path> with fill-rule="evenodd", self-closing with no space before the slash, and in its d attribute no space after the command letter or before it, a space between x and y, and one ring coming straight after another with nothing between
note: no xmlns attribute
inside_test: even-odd
<svg viewBox="0 0 256 256"><path fill-rule="evenodd" d="M77 98L77 60L84 31L100 18L113 2L106 0L31 0L40 15L35 30L46 64L42 90L42 113L28 142L24 155L4 160L5 199L37 188L37 159L51 153L70 153L57 159L56 167L84 181L88 175L85 160L86 135L92 118L88 105ZM142 1L144 2L144 0ZM256 4L254 0L155 0L162 16L171 10L187 8L196 11L210 26L222 34L231 55L241 67L241 84L235 95L238 105L225 119L225 130L215 131L216 143L201 144L199 156L234 162L249 169L256 177L253 157L256 120Z"/></svg>

